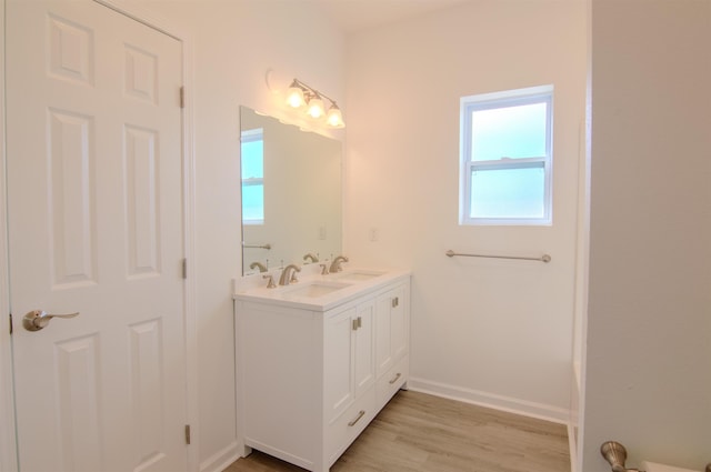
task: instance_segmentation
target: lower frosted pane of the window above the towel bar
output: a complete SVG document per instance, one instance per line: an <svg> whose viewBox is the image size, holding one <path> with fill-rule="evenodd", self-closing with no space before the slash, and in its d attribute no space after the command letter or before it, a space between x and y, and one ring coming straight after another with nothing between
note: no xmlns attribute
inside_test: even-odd
<svg viewBox="0 0 711 472"><path fill-rule="evenodd" d="M544 218L543 164L472 169L469 218Z"/></svg>

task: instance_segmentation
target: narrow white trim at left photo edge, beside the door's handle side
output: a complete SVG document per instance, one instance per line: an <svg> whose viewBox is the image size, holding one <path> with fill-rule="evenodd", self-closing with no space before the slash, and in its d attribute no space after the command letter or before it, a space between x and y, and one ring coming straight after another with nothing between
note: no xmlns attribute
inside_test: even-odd
<svg viewBox="0 0 711 472"><path fill-rule="evenodd" d="M12 339L10 317L10 267L8 262L8 202L6 185L6 100L4 100L4 0L0 0L0 471L19 470L12 381Z"/></svg>

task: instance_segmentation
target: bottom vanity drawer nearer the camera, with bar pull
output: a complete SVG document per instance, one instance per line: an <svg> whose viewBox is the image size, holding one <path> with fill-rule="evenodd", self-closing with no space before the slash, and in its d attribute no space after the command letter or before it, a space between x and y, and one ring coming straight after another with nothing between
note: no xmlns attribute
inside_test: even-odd
<svg viewBox="0 0 711 472"><path fill-rule="evenodd" d="M346 451L368 423L375 418L375 390L369 389L348 410L326 428L326 451L329 465Z"/></svg>

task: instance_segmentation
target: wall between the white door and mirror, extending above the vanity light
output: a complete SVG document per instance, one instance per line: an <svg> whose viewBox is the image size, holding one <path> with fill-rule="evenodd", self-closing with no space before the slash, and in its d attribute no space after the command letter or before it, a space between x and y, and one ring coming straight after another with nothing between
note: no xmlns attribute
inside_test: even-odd
<svg viewBox="0 0 711 472"><path fill-rule="evenodd" d="M194 44L194 90L187 93L196 130L199 460L201 470L218 470L237 454L231 290L241 275L239 106L286 116L283 97L267 88L269 68L279 88L298 77L342 99L344 38L303 2L138 3L183 26Z"/></svg>

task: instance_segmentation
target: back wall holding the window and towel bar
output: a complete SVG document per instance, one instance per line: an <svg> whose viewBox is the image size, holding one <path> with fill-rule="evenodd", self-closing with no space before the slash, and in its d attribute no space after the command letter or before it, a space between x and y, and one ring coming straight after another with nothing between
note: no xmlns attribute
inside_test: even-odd
<svg viewBox="0 0 711 472"><path fill-rule="evenodd" d="M349 37L347 253L413 270L412 386L568 420L584 13L481 1ZM460 97L548 83L553 225L459 227Z"/></svg>

